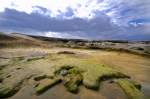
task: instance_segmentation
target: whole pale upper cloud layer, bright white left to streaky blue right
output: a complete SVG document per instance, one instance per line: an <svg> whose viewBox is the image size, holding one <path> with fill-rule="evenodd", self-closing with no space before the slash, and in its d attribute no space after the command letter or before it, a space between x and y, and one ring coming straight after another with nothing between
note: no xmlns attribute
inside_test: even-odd
<svg viewBox="0 0 150 99"><path fill-rule="evenodd" d="M28 14L38 12L51 17L92 19L98 15L94 12L99 11L108 15L114 24L128 26L130 20L150 18L149 5L150 0L101 0L101 2L98 0L0 0L0 12L5 8L11 8ZM48 11L42 12L35 6L46 8ZM68 11L68 8L73 10L73 16L66 17L63 14ZM131 11L126 11L128 9Z"/></svg>

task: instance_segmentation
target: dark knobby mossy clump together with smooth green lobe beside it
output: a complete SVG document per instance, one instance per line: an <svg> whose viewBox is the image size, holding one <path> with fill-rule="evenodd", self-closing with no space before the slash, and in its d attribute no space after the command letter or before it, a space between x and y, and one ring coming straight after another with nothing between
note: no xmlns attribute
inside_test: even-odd
<svg viewBox="0 0 150 99"><path fill-rule="evenodd" d="M82 62L80 64L83 64ZM84 64L85 65L85 64ZM83 67L83 66L82 66ZM87 88L97 90L101 81L114 78L129 78L129 76L115 71L112 68L104 65L96 65L81 71L77 66L62 66L58 69L55 74L63 81L64 86L70 92L78 92L78 87L83 84Z"/></svg>

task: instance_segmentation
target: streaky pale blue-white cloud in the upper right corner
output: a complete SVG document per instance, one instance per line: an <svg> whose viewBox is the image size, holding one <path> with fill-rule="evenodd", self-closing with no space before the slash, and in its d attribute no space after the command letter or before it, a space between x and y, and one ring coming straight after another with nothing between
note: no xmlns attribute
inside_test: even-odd
<svg viewBox="0 0 150 99"><path fill-rule="evenodd" d="M149 0L104 0L101 11L104 11L119 26L129 26L135 19L150 19Z"/></svg>

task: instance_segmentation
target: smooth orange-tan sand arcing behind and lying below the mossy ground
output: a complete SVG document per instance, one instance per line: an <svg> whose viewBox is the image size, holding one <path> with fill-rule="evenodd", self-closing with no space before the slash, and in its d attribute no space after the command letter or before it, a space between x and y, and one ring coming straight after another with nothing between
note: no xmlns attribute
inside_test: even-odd
<svg viewBox="0 0 150 99"><path fill-rule="evenodd" d="M60 50L79 52L83 54L83 56L86 54L87 56L91 56L91 59L95 62L99 62L114 69L120 70L121 72L131 76L132 79L141 83L144 94L146 96L150 96L150 59L147 57L120 52L67 48L0 49L0 53L2 53L0 56L11 58L15 56L30 56L34 53L37 55L43 55L47 53L54 53ZM2 64L5 59L0 58L0 60ZM8 99L127 99L127 97L117 85L108 82L102 84L99 88L99 91L89 90L84 86L81 86L78 94L72 94L66 91L64 86L59 84L50 88L42 95L36 96L35 91L32 88L32 84L27 82L18 93Z"/></svg>

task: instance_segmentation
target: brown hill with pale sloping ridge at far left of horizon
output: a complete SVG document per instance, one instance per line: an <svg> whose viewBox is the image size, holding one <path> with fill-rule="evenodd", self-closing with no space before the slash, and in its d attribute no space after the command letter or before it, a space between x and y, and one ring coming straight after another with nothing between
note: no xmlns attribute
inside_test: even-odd
<svg viewBox="0 0 150 99"><path fill-rule="evenodd" d="M32 38L24 34L5 34L0 33L0 47L25 47L25 46L41 46L45 47L44 41Z"/></svg>

